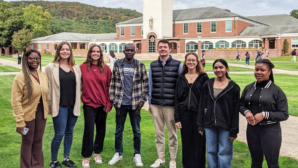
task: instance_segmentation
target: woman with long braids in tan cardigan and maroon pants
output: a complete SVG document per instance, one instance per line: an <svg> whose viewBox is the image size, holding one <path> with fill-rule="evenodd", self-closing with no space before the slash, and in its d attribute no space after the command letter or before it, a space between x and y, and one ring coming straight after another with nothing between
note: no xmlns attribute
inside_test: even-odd
<svg viewBox="0 0 298 168"><path fill-rule="evenodd" d="M15 76L11 87L11 106L16 121L16 132L23 133L21 168L44 167L42 137L48 116L48 77L41 72L40 60L41 55L38 51L25 52L22 71ZM29 130L25 134L23 130L27 128Z"/></svg>

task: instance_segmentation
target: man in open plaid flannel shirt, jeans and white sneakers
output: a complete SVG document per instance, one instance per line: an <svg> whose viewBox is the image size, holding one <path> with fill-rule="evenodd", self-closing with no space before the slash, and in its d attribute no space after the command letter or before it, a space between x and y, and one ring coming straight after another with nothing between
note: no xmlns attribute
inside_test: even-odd
<svg viewBox="0 0 298 168"><path fill-rule="evenodd" d="M113 67L110 98L116 110L115 155L108 163L114 165L122 160L122 139L125 119L129 114L134 133L134 163L142 167L141 160L141 108L149 94L148 75L145 65L134 59L135 46L127 44L125 58L117 60Z"/></svg>

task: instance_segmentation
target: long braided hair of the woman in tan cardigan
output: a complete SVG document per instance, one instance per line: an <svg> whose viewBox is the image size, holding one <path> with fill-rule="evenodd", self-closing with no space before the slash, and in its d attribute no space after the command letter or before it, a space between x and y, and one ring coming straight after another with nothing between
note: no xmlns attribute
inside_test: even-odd
<svg viewBox="0 0 298 168"><path fill-rule="evenodd" d="M33 100L33 95L32 95L33 87L32 87L32 80L30 78L31 75L30 75L30 70L29 70L27 59L31 53L36 53L39 57L41 57L40 53L36 50L28 50L24 53L24 55L22 57L22 71L24 74L25 84L27 86L30 101ZM41 71L41 61L39 62L39 71Z"/></svg>

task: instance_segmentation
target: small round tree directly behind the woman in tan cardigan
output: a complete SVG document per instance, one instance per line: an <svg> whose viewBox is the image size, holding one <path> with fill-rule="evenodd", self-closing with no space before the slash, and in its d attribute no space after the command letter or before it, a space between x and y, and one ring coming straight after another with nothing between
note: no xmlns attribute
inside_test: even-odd
<svg viewBox="0 0 298 168"><path fill-rule="evenodd" d="M22 28L19 31L15 31L12 35L11 45L17 51L25 51L31 43L33 34L29 29Z"/></svg>

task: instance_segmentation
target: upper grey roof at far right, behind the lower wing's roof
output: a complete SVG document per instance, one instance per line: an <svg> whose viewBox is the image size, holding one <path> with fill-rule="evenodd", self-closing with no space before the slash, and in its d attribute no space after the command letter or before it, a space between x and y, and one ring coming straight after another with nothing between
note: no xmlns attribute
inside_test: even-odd
<svg viewBox="0 0 298 168"><path fill-rule="evenodd" d="M248 16L246 18L255 20L270 26L298 25L298 19L288 14Z"/></svg>

